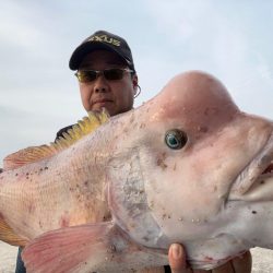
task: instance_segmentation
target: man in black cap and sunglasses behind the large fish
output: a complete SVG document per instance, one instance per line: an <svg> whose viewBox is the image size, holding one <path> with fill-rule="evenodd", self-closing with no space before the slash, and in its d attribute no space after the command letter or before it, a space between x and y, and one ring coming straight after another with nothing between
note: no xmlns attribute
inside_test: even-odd
<svg viewBox="0 0 273 273"><path fill-rule="evenodd" d="M115 116L132 109L139 88L138 75L130 47L123 38L105 31L96 32L74 50L69 66L71 70L78 70L75 75L79 80L82 105L86 111L106 108L110 116ZM61 129L57 138L69 128L71 126ZM107 214L106 211L105 217L109 216ZM102 222L105 217L97 218L96 222ZM19 254L17 262L20 261ZM170 248L169 263L174 273L189 272L186 270L185 252L180 245L174 244ZM244 268L245 264L249 264L245 260L237 263L241 265L240 271L221 272L250 272ZM17 265L16 273L23 272L25 271L21 263ZM165 269L158 268L142 272L171 271L169 266L165 266Z"/></svg>

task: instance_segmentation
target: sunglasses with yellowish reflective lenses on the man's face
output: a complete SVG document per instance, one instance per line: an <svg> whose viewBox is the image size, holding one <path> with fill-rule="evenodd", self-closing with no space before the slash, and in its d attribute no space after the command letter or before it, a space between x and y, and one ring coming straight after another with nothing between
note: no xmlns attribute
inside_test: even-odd
<svg viewBox="0 0 273 273"><path fill-rule="evenodd" d="M95 81L99 75L104 75L104 78L108 81L117 81L121 80L126 72L132 73L133 70L130 69L105 69L105 70L79 70L75 73L79 82L87 83Z"/></svg>

